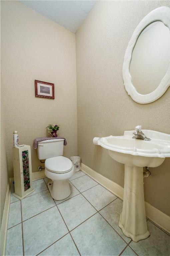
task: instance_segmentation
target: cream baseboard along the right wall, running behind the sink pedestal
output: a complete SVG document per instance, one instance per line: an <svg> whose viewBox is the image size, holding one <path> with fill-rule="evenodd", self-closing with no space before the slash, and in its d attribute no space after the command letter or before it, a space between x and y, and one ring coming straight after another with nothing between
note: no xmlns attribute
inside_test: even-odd
<svg viewBox="0 0 170 256"><path fill-rule="evenodd" d="M115 194L120 199L123 199L123 187L107 179L106 177L92 170L90 167L86 166L83 163L81 164L81 168L86 174L88 174L95 181L100 183L103 187L107 188L110 192ZM148 219L150 219L152 222L154 222L156 225L158 225L166 232L170 233L170 217L168 215L159 211L157 208L153 207L151 204L147 202L145 202L145 210L146 217Z"/></svg>

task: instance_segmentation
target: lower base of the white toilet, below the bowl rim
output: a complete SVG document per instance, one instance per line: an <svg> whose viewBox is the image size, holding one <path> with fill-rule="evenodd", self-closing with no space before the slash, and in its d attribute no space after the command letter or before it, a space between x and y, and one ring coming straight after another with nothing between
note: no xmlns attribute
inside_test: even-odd
<svg viewBox="0 0 170 256"><path fill-rule="evenodd" d="M48 189L55 200L63 200L71 194L68 180L51 180L48 182Z"/></svg>

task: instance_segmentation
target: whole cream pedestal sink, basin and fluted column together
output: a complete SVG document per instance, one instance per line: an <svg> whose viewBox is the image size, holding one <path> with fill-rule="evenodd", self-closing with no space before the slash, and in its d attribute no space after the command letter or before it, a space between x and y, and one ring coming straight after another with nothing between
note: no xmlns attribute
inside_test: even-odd
<svg viewBox="0 0 170 256"><path fill-rule="evenodd" d="M165 157L170 157L170 135L143 130L150 141L132 138L134 131L125 131L123 136L95 137L93 143L108 149L109 155L125 165L123 209L119 227L133 241L147 238L143 167L157 167Z"/></svg>

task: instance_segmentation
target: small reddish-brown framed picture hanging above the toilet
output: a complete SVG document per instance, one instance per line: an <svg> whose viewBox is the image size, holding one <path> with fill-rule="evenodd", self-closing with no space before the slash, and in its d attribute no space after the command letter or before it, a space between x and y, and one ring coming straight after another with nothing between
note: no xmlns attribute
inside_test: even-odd
<svg viewBox="0 0 170 256"><path fill-rule="evenodd" d="M54 99L54 84L35 80L35 97Z"/></svg>

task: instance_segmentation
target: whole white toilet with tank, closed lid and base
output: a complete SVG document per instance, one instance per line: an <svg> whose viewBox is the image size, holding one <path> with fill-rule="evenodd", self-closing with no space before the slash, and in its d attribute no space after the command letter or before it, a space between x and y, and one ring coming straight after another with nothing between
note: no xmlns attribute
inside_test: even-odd
<svg viewBox="0 0 170 256"><path fill-rule="evenodd" d="M62 156L64 139L38 142L38 159L45 160L45 175L51 179L48 188L52 198L63 200L71 194L68 179L74 174L70 159Z"/></svg>

